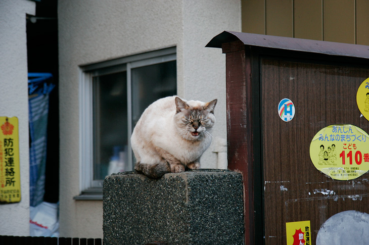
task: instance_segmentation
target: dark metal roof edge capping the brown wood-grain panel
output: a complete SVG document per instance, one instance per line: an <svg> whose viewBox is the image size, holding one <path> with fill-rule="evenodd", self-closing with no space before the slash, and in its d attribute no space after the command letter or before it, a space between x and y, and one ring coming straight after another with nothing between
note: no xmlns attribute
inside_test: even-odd
<svg viewBox="0 0 369 245"><path fill-rule="evenodd" d="M369 59L369 46L292 37L223 31L213 37L206 47L221 48L221 44L240 40L245 45L279 48L282 50Z"/></svg>

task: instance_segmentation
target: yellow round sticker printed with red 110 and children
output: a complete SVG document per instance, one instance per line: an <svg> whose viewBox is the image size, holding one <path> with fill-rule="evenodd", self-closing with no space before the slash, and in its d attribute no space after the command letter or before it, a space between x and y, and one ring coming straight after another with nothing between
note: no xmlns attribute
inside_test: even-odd
<svg viewBox="0 0 369 245"><path fill-rule="evenodd" d="M369 170L369 135L350 124L325 127L311 140L310 158L332 179L356 179Z"/></svg>

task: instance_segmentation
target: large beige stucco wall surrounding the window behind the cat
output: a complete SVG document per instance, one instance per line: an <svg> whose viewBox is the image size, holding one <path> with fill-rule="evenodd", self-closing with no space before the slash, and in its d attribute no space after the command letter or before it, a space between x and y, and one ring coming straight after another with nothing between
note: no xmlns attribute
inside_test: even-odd
<svg viewBox="0 0 369 245"><path fill-rule="evenodd" d="M214 138L226 138L225 57L205 48L223 30L241 31L240 0L59 1L60 235L102 237L102 201L75 201L79 188L79 66L177 47L178 94L217 98ZM202 158L216 168L214 146Z"/></svg>

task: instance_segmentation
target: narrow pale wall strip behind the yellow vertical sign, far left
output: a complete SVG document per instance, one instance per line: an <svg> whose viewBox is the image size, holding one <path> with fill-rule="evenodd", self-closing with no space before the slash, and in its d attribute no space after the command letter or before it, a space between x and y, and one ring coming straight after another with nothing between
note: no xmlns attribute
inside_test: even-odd
<svg viewBox="0 0 369 245"><path fill-rule="evenodd" d="M35 14L35 3L0 1L0 116L18 117L21 176L21 202L0 205L0 235L29 235L26 14Z"/></svg>

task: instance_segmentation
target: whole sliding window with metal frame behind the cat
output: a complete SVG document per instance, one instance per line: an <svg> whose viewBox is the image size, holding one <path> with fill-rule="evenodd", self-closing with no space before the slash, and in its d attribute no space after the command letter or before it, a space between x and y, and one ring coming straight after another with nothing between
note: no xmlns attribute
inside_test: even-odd
<svg viewBox="0 0 369 245"><path fill-rule="evenodd" d="M81 67L80 189L101 199L106 175L131 171L130 136L144 110L176 94L175 47Z"/></svg>

